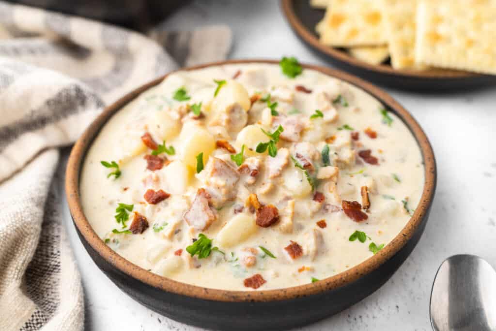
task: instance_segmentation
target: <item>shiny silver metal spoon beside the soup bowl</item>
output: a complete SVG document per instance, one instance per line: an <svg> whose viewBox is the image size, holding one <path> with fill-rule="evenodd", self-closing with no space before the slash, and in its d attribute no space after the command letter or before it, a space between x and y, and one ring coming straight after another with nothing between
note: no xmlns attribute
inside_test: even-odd
<svg viewBox="0 0 496 331"><path fill-rule="evenodd" d="M437 270L431 292L435 331L496 330L496 271L474 255L454 255Z"/></svg>

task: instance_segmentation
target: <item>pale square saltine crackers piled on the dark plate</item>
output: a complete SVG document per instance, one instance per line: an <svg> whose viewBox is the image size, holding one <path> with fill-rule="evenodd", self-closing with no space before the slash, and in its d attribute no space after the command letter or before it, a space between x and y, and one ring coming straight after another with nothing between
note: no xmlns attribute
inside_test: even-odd
<svg viewBox="0 0 496 331"><path fill-rule="evenodd" d="M496 74L496 0L310 0L327 3L320 42L371 64Z"/></svg>

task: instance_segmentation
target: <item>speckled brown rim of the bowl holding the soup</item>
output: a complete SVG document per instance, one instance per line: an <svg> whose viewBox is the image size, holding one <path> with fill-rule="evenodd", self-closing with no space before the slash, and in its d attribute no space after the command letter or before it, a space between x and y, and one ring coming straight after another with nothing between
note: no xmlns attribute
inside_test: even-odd
<svg viewBox="0 0 496 331"><path fill-rule="evenodd" d="M410 218L405 227L400 233L388 243L377 254L362 263L351 267L343 272L333 276L321 279L318 282L298 285L294 287L286 287L273 290L257 290L257 291L233 291L223 289L206 288L196 285L191 285L166 278L154 274L144 268L135 265L128 260L121 257L114 250L112 250L102 239L98 237L92 229L88 220L86 219L81 201L79 197L79 175L82 166L82 161L86 156L86 151L93 142L94 138L98 135L101 128L107 121L118 112L124 105L136 98L143 91L152 86L160 83L165 77L176 71L182 70L196 70L208 66L222 66L222 65L243 65L248 63L262 63L276 65L279 62L275 60L228 60L215 63L208 63L198 66L189 66L178 70L171 71L157 79L146 83L137 89L127 93L122 98L106 107L103 112L91 123L91 125L83 132L80 138L74 144L66 168L65 174L65 194L69 206L69 211L72 216L74 225L80 232L80 235L89 244L97 254L100 255L107 263L117 268L120 272L137 279L145 284L155 287L159 290L172 292L179 295L184 295L192 298L220 301L220 302L269 302L295 299L298 297L319 294L325 291L330 291L347 284L350 284L360 277L371 273L380 265L384 264L387 260L392 258L415 233L419 225L425 220L427 221L428 212L434 198L434 191L436 186L436 163L434 159L434 152L429 142L429 139L415 121L415 119L408 113L397 101L395 101L389 94L375 87L369 82L366 82L356 76L350 75L343 71L331 69L324 66L315 66L302 64L306 69L319 71L320 73L341 79L350 83L365 92L372 95L378 101L393 111L412 132L414 138L421 149L425 166L425 183L424 190L413 216ZM82 238L80 240L82 241Z"/></svg>

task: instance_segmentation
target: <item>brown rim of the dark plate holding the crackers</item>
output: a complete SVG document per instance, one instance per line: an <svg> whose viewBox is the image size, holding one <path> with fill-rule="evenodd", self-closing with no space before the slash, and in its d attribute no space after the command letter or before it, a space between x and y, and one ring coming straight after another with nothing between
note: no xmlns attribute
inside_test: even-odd
<svg viewBox="0 0 496 331"><path fill-rule="evenodd" d="M375 73L388 74L388 75L398 75L411 78L422 78L422 79L467 79L467 78L477 78L484 77L485 74L463 71L463 70L451 70L444 69L442 71L438 70L413 70L413 69L394 69L392 66L387 65L372 65L367 62L356 59L343 51L337 50L334 47L328 47L322 45L317 37L313 35L302 23L300 18L296 15L293 10L293 0L281 0L282 12L293 29L293 31L302 38L310 47L325 54L335 60L339 60L350 66L355 66L357 68L373 71Z"/></svg>

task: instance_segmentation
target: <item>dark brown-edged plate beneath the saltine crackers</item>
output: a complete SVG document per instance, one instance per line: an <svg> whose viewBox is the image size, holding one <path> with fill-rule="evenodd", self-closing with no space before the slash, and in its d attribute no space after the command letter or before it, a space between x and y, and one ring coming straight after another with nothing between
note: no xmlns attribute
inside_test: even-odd
<svg viewBox="0 0 496 331"><path fill-rule="evenodd" d="M296 35L312 51L345 71L384 86L411 91L445 92L496 85L496 75L484 75L458 70L394 69L389 64L371 65L360 61L346 51L322 45L315 25L325 10L310 6L308 0L281 0L281 9Z"/></svg>

